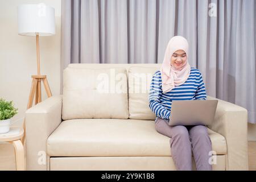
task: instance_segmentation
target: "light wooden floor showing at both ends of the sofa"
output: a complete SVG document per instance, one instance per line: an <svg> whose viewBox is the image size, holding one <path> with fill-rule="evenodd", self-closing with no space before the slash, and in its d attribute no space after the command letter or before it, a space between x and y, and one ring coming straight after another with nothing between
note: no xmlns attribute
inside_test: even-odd
<svg viewBox="0 0 256 182"><path fill-rule="evenodd" d="M248 142L249 170L256 171L256 142ZM15 170L14 148L9 143L0 143L0 170Z"/></svg>

